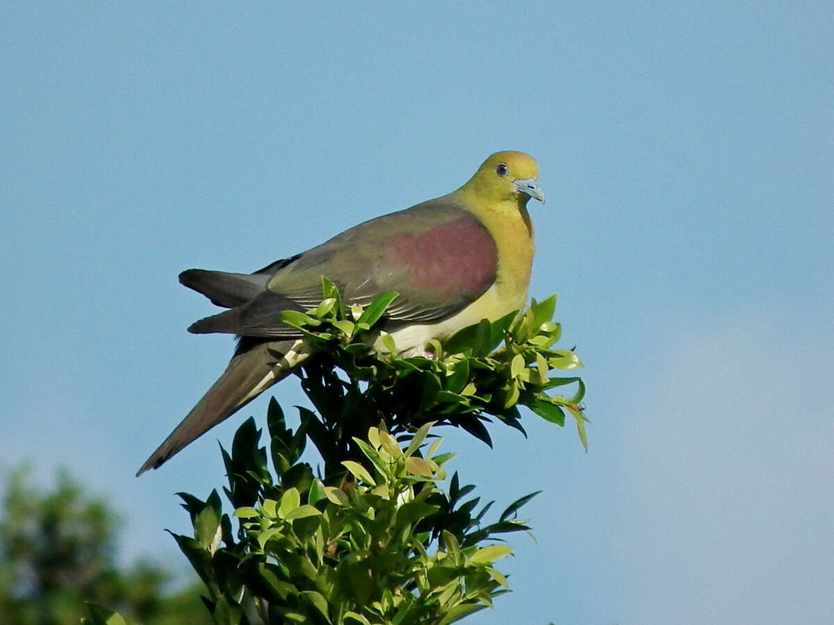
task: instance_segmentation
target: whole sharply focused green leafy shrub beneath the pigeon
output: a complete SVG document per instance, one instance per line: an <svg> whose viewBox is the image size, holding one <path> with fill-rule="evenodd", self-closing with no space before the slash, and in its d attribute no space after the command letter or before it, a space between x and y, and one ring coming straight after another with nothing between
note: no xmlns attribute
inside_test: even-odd
<svg viewBox="0 0 834 625"><path fill-rule="evenodd" d="M273 399L268 447L253 419L239 428L222 452L231 517L216 491L205 501L179 493L193 537L173 536L208 588L214 622L445 624L492 607L508 592L496 564L512 552L503 537L529 530L516 515L537 493L495 517L457 473L440 488L452 454L439 453L435 433L451 425L491 444L489 423L524 433L526 406L560 426L570 415L587 446L585 386L558 375L581 363L554 347L555 296L398 358L384 326L396 294L345 308L323 283L318 308L284 316L319 348L299 371L314 410L299 408L293 430ZM369 350L374 341L388 353ZM308 443L316 468L302 460Z"/></svg>

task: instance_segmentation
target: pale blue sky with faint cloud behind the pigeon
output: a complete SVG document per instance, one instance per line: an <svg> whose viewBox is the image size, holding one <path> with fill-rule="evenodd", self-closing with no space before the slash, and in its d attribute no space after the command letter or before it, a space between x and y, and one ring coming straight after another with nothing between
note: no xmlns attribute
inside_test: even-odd
<svg viewBox="0 0 834 625"><path fill-rule="evenodd" d="M9 3L0 21L3 463L67 467L187 564L134 478L228 361L185 268L252 271L540 163L531 295L560 293L590 449L534 414L452 464L525 507L481 623L834 622L834 5ZM311 4L311 3L310 3ZM274 388L291 413L294 379Z"/></svg>

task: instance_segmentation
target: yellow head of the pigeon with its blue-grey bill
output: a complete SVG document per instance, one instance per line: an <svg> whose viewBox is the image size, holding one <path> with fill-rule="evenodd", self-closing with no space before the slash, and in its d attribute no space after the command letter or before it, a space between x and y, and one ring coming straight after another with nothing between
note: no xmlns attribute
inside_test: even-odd
<svg viewBox="0 0 834 625"><path fill-rule="evenodd" d="M484 161L458 193L475 193L489 203L513 202L524 206L530 198L545 201L538 178L539 166L530 155L497 152Z"/></svg>

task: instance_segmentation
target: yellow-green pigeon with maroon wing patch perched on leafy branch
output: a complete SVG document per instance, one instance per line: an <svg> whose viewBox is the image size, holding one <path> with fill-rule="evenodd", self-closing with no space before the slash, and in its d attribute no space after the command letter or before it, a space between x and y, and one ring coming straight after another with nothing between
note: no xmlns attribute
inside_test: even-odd
<svg viewBox="0 0 834 625"><path fill-rule="evenodd" d="M188 332L234 334L239 343L224 373L137 477L314 354L297 328L281 323L281 313L318 306L323 276L346 305L367 306L384 293L398 293L381 323L399 355L425 354L432 339L442 343L482 319L495 322L523 308L535 253L527 203L545 202L538 178L528 154L498 152L448 195L360 223L254 273L180 273L185 287L228 309L193 323ZM373 347L384 349L379 341Z"/></svg>

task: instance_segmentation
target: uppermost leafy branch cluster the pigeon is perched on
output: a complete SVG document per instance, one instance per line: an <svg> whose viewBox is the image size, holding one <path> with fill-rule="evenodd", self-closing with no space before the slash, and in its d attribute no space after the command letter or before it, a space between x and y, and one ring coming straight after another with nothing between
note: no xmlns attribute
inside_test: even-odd
<svg viewBox="0 0 834 625"><path fill-rule="evenodd" d="M561 325L552 321L556 296L495 323L483 320L441 345L431 341L426 357L399 358L385 332L384 311L396 297L388 293L368 308L345 309L339 291L323 278L324 300L308 313L285 313L319 348L299 372L302 388L316 410L301 410L305 432L322 453L325 473L341 459L358 458L352 443L382 419L391 433L413 431L435 421L465 429L491 446L493 419L525 433L520 406L550 423L575 419L587 448L582 400L585 384L560 372L580 368L572 351L555 348ZM369 350L369 344L384 348ZM339 372L343 375L339 376ZM551 389L572 388L551 396Z"/></svg>

